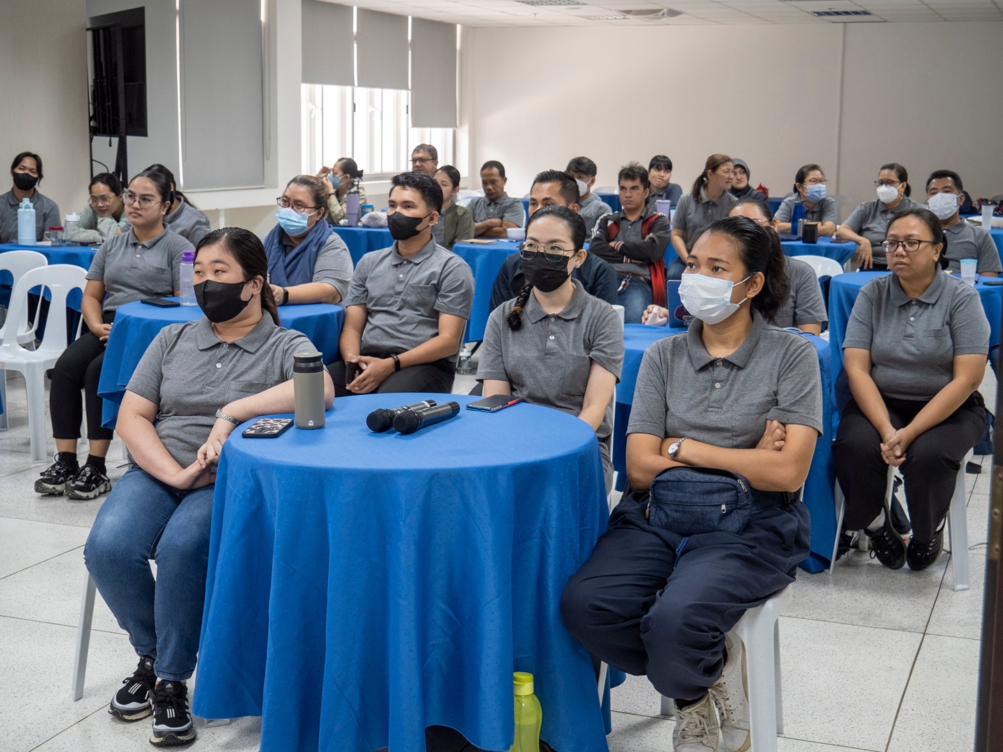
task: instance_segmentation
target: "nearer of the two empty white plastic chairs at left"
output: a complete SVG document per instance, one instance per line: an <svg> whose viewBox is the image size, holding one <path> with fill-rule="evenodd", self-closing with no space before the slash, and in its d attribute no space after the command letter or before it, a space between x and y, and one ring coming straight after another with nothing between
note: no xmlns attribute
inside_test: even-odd
<svg viewBox="0 0 1003 752"><path fill-rule="evenodd" d="M45 337L37 350L26 350L18 344L18 327L4 327L0 344L0 370L19 371L24 374L28 394L28 429L31 436L31 461L44 462L47 454L45 427L45 372L52 368L66 349L66 296L71 290L81 291L87 284L87 272L71 264L32 269L26 272L10 296L9 316L12 324L26 320L28 291L43 286L48 288L48 322ZM77 327L79 335L79 326ZM6 373L4 374L6 377Z"/></svg>

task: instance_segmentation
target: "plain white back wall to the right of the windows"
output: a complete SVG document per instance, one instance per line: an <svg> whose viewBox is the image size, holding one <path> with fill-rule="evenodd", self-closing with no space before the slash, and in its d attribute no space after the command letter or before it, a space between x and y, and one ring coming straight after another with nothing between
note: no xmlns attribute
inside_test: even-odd
<svg viewBox="0 0 1003 752"><path fill-rule="evenodd" d="M1003 193L1001 33L1003 23L464 29L471 174L499 159L523 196L536 172L578 154L613 184L627 161L666 153L686 189L724 152L773 196L809 161L855 203L893 160L920 193L938 167L961 172L973 196ZM988 100L983 71L997 84ZM901 114L883 123L885 109Z"/></svg>

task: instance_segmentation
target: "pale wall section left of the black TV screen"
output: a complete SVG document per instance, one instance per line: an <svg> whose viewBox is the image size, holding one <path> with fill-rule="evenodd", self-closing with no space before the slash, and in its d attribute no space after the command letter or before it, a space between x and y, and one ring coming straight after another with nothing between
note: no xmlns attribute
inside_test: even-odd
<svg viewBox="0 0 1003 752"><path fill-rule="evenodd" d="M39 190L62 214L87 199L87 81L80 0L0 0L0 163L42 157Z"/></svg>

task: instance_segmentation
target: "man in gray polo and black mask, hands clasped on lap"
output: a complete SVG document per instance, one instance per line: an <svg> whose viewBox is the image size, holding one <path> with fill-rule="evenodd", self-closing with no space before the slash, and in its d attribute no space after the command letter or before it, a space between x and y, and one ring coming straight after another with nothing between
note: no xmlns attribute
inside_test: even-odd
<svg viewBox="0 0 1003 752"><path fill-rule="evenodd" d="M390 181L387 226L396 241L359 260L343 305L335 394L449 392L473 302L473 274L436 246L442 191L423 172ZM357 371L357 374L356 374Z"/></svg>

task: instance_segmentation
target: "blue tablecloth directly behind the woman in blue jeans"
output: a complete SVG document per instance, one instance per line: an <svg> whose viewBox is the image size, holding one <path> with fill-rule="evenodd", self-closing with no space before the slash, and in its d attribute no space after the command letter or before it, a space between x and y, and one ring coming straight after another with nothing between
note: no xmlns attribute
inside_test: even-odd
<svg viewBox="0 0 1003 752"><path fill-rule="evenodd" d="M201 318L202 309L198 306L157 308L136 301L126 303L118 309L104 350L101 379L97 384L97 394L104 400L101 425L105 428L115 427L118 405L125 396L125 387L149 343L159 331L171 324ZM326 303L279 307L282 326L309 337L314 347L324 353L325 363L330 363L338 355L338 337L344 319L344 308Z"/></svg>

